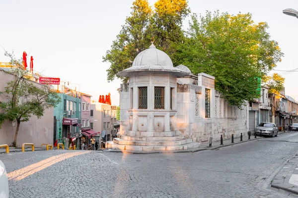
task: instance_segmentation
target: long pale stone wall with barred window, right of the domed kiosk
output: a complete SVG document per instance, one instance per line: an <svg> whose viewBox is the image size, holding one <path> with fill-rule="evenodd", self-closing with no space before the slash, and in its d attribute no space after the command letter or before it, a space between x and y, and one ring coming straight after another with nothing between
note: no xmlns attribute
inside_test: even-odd
<svg viewBox="0 0 298 198"><path fill-rule="evenodd" d="M225 101L214 89L213 76L198 75L199 86L177 85L177 128L181 135L205 142L247 135L247 107L237 108ZM210 117L205 116L205 90L210 90Z"/></svg>

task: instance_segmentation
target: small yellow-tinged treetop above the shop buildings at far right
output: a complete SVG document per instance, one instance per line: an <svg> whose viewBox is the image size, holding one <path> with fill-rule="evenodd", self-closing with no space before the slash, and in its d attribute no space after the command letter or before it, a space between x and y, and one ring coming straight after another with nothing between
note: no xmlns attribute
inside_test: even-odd
<svg viewBox="0 0 298 198"><path fill-rule="evenodd" d="M281 75L274 73L272 76L265 75L263 84L268 88L269 94L279 94L284 88L285 78Z"/></svg>

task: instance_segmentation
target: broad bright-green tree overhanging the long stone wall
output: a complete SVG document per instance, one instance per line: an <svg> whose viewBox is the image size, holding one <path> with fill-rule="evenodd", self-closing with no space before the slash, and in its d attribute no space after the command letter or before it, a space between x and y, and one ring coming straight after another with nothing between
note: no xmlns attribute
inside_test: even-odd
<svg viewBox="0 0 298 198"><path fill-rule="evenodd" d="M254 23L250 13L193 14L187 39L173 59L194 74L215 76L216 90L229 103L241 106L260 97L257 77L276 67L283 56L267 29L265 22Z"/></svg>

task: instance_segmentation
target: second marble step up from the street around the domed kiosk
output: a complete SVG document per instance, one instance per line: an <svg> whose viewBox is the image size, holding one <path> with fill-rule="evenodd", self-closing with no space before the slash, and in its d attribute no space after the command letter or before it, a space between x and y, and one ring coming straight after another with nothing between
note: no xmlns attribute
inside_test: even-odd
<svg viewBox="0 0 298 198"><path fill-rule="evenodd" d="M120 138L114 138L114 143L118 145L133 145L133 146L179 146L192 143L191 139L184 139L178 141L155 141L155 142L147 142L147 141L130 141L130 140L122 140Z"/></svg>

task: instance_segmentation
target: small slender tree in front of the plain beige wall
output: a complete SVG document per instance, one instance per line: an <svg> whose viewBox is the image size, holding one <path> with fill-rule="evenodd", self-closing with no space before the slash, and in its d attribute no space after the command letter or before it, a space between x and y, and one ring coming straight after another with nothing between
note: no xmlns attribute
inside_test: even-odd
<svg viewBox="0 0 298 198"><path fill-rule="evenodd" d="M30 73L24 70L21 60L16 60L12 54L5 53L11 58L14 80L7 82L0 94L5 101L0 101L0 127L5 120L16 121L13 147L16 147L17 135L21 122L29 121L32 115L41 118L44 111L59 103L58 94L49 85L38 85L30 80Z"/></svg>

